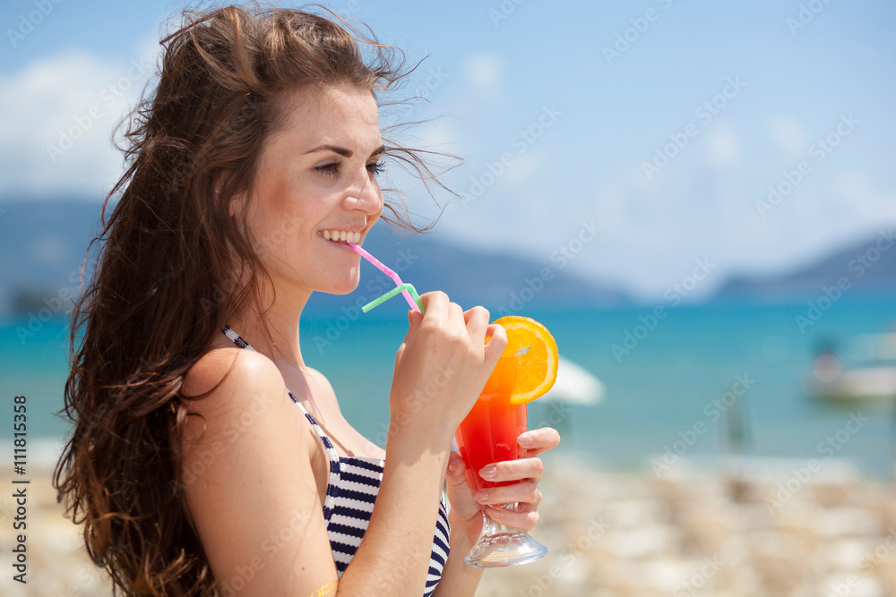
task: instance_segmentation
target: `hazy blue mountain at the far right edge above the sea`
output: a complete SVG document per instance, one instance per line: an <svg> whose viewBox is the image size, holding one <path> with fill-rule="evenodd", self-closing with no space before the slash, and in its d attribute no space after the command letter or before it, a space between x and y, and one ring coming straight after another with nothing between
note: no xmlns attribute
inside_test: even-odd
<svg viewBox="0 0 896 597"><path fill-rule="evenodd" d="M804 268L776 276L731 277L713 300L785 302L812 299L840 286L850 296L896 297L896 227L856 243Z"/></svg>

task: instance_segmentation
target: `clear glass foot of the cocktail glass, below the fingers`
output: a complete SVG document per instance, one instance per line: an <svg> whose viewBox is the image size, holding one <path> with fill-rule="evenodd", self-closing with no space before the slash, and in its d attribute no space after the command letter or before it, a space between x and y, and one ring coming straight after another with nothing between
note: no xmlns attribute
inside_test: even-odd
<svg viewBox="0 0 896 597"><path fill-rule="evenodd" d="M513 504L504 507L512 508ZM474 568L495 568L529 564L547 555L547 547L532 539L529 533L510 526L498 525L482 515L482 531L463 563Z"/></svg>

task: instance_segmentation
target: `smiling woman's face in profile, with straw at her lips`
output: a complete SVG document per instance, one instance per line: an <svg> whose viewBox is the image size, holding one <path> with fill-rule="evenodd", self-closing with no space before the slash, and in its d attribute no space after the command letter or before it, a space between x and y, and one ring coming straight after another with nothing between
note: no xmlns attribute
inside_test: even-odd
<svg viewBox="0 0 896 597"><path fill-rule="evenodd" d="M246 226L277 294L346 294L358 286L363 243L383 211L383 156L373 94L353 87L291 95L265 142Z"/></svg>

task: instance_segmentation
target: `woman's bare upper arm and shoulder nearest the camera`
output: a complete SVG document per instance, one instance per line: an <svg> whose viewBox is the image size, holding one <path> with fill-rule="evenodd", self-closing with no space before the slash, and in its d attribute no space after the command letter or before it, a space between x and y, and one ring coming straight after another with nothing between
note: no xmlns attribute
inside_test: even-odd
<svg viewBox="0 0 896 597"><path fill-rule="evenodd" d="M251 594L309 594L336 580L303 417L274 364L211 351L187 374L183 482L212 573ZM235 585L236 581L236 585ZM251 588L250 588L251 587Z"/></svg>

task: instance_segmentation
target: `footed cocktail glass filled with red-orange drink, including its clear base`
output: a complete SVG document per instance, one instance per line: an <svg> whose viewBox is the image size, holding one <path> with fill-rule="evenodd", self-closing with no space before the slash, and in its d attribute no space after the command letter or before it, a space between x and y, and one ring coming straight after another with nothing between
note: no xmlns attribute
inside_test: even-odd
<svg viewBox="0 0 896 597"><path fill-rule="evenodd" d="M512 484L487 481L479 471L486 465L524 456L517 438L528 429L526 405L510 402L517 367L516 356L502 356L498 360L486 387L454 435L473 491ZM515 504L496 506L513 509ZM467 566L480 568L518 566L544 558L546 554L547 548L529 533L495 523L483 508L482 531L463 561Z"/></svg>

